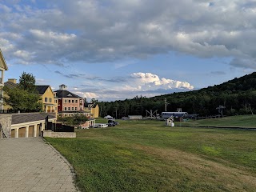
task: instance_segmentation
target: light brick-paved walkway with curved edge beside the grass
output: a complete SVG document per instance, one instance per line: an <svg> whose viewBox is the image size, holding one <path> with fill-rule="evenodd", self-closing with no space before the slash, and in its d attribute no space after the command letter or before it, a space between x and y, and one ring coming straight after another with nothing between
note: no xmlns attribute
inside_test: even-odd
<svg viewBox="0 0 256 192"><path fill-rule="evenodd" d="M0 139L0 191L78 191L74 174L42 138Z"/></svg>

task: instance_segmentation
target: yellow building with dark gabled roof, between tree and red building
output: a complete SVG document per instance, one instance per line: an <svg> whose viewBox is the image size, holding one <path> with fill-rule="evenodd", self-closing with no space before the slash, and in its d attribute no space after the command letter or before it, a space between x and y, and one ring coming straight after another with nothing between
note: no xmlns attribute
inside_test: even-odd
<svg viewBox="0 0 256 192"><path fill-rule="evenodd" d="M58 103L50 86L36 86L42 98L42 110L46 113L58 113Z"/></svg>

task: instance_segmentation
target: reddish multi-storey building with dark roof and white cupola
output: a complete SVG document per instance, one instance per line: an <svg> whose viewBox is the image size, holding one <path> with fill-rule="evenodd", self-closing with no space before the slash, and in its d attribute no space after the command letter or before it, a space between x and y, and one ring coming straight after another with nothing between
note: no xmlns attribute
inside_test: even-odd
<svg viewBox="0 0 256 192"><path fill-rule="evenodd" d="M81 113L90 118L90 113L84 111L83 98L66 90L66 85L60 85L59 90L54 91L54 94L58 98L58 116L68 117Z"/></svg>

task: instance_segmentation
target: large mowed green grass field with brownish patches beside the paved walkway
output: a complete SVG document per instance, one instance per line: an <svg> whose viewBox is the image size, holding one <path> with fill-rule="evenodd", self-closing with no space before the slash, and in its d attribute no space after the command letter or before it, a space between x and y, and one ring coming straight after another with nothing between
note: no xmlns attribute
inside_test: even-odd
<svg viewBox="0 0 256 192"><path fill-rule="evenodd" d="M82 191L256 189L256 131L119 122L46 138L74 166Z"/></svg>

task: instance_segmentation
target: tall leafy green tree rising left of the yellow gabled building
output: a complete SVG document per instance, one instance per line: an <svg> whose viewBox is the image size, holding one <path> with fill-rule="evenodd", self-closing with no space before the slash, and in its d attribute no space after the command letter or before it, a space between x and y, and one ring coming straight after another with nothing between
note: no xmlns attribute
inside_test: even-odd
<svg viewBox="0 0 256 192"><path fill-rule="evenodd" d="M35 92L35 78L33 74L26 74L26 72L22 73L22 76L19 77L19 88L22 90L27 90L29 92Z"/></svg>

